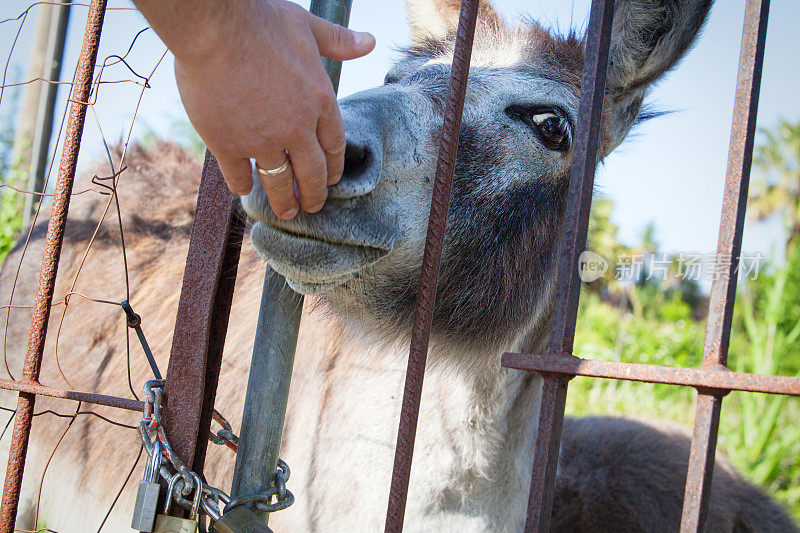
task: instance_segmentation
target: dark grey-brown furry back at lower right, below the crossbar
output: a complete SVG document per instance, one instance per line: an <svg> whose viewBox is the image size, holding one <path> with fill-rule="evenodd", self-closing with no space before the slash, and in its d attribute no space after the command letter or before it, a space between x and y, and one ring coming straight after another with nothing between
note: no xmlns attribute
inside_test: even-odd
<svg viewBox="0 0 800 533"><path fill-rule="evenodd" d="M683 427L609 417L567 419L561 445L553 531L680 529L691 447ZM718 458L707 531L781 533L797 527L775 502Z"/></svg>

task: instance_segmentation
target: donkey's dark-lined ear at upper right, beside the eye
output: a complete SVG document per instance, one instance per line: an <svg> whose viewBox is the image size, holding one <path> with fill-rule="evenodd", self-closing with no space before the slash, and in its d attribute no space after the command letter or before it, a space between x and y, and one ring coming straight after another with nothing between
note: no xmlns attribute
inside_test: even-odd
<svg viewBox="0 0 800 533"><path fill-rule="evenodd" d="M636 122L647 87L692 47L713 0L617 0L611 33L606 116L613 150Z"/></svg>

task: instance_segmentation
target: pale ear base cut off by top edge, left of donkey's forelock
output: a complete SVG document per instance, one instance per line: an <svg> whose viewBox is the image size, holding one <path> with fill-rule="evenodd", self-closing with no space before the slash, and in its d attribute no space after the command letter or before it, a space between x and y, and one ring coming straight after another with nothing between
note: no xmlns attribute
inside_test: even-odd
<svg viewBox="0 0 800 533"><path fill-rule="evenodd" d="M412 42L442 41L455 35L460 11L461 0L406 0ZM503 27L503 19L489 0L480 0L478 27L492 31Z"/></svg>

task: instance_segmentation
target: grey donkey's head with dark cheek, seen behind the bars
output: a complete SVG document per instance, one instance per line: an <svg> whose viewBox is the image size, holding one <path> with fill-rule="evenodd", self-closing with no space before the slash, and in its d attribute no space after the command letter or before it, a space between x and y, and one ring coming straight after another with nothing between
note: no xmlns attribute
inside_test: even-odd
<svg viewBox="0 0 800 533"><path fill-rule="evenodd" d="M602 156L691 46L711 2L617 1ZM457 0L408 0L412 45L383 86L340 102L345 172L321 212L278 219L258 180L244 198L256 248L294 289L392 336L407 330L416 301L458 13ZM435 338L487 347L547 329L583 57L574 34L510 27L481 3Z"/></svg>

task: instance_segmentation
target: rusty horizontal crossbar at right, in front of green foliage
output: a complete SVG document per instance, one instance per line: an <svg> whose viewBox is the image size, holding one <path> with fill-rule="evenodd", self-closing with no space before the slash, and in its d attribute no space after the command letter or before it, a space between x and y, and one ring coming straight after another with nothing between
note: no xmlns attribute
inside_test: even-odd
<svg viewBox="0 0 800 533"><path fill-rule="evenodd" d="M732 372L724 366L681 368L671 366L594 361L572 355L503 354L502 365L551 374L624 379L645 383L684 385L704 391L738 390L800 396L800 378Z"/></svg>

